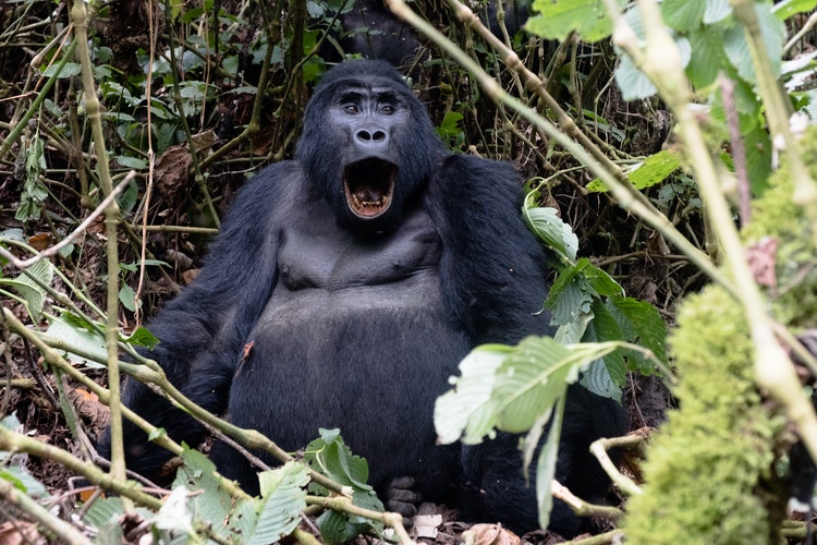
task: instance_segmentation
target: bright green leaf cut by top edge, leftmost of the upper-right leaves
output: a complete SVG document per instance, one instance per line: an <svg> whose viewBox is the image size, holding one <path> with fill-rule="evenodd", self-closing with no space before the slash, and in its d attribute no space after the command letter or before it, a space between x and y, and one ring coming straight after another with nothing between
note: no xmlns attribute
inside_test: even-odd
<svg viewBox="0 0 817 545"><path fill-rule="evenodd" d="M626 1L617 3L623 9ZM603 0L534 0L534 11L538 15L528 19L525 28L544 38L563 40L576 32L592 44L612 33Z"/></svg>

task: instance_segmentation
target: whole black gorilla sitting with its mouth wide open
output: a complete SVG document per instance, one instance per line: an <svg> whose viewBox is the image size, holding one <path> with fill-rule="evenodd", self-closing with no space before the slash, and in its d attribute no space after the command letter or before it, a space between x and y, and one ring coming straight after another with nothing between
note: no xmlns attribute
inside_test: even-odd
<svg viewBox="0 0 817 545"><path fill-rule="evenodd" d="M411 476L470 517L535 528L515 437L461 451L437 447L432 424L472 348L548 330L519 182L509 164L447 153L386 62L340 64L315 89L296 159L242 190L199 277L153 322L161 342L148 355L192 400L284 449L339 427L381 493ZM205 436L139 383L124 400L176 440ZM576 387L565 421L558 479L598 494L588 445L622 432L621 410ZM155 476L167 452L130 423L125 440L129 467ZM236 451L217 444L211 458L257 492ZM554 528L574 532L560 509Z"/></svg>

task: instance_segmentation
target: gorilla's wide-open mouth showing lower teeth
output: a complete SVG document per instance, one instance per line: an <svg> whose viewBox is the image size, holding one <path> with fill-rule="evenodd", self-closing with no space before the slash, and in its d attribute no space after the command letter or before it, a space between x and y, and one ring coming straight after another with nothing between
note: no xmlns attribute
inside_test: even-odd
<svg viewBox="0 0 817 545"><path fill-rule="evenodd" d="M391 205L398 166L369 158L353 162L343 172L346 202L358 218L374 219Z"/></svg>

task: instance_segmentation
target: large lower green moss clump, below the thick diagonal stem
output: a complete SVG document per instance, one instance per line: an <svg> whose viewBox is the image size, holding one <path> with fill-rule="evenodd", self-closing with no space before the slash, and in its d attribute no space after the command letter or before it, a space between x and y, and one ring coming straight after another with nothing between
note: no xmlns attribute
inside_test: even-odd
<svg viewBox="0 0 817 545"><path fill-rule="evenodd" d="M758 491L783 420L755 389L743 311L709 287L684 303L678 325L681 408L650 445L644 494L627 505L627 543L773 543Z"/></svg>

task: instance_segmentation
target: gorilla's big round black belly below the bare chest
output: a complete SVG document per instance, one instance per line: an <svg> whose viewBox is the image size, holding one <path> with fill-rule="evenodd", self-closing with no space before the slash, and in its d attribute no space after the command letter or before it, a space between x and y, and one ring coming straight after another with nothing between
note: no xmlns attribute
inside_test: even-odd
<svg viewBox="0 0 817 545"><path fill-rule="evenodd" d="M288 450L338 427L376 485L432 475L444 464L429 459L444 456L432 447L434 402L470 350L450 322L434 270L378 286L279 287L236 371L231 419Z"/></svg>

